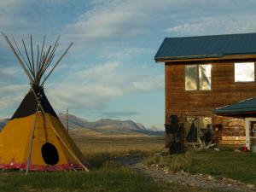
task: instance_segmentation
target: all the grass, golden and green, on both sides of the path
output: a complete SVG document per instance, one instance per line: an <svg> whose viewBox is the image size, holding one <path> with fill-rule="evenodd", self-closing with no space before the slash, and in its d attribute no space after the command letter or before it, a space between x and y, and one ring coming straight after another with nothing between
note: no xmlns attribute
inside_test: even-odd
<svg viewBox="0 0 256 192"><path fill-rule="evenodd" d="M90 191L90 192L212 192L208 189L164 183L119 166L113 158L123 154L144 154L148 164L170 166L173 171L231 177L256 184L256 154L233 151L201 151L178 155L153 155L164 146L163 137L99 137L71 132L85 158L93 166L90 172L0 172L0 192L5 191Z"/></svg>

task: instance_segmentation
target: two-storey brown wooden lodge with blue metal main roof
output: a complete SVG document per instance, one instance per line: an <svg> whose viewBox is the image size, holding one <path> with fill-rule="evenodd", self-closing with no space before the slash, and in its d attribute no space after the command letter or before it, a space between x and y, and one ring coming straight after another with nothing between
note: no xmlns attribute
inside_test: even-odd
<svg viewBox="0 0 256 192"><path fill-rule="evenodd" d="M256 33L165 38L154 59L165 63L166 124L177 115L185 143L210 132L218 144L246 144L244 116L214 110L256 96Z"/></svg>

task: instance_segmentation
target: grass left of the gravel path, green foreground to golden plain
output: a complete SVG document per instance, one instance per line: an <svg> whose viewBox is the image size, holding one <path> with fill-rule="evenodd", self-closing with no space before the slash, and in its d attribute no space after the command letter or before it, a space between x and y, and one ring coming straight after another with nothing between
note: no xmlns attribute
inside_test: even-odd
<svg viewBox="0 0 256 192"><path fill-rule="evenodd" d="M212 192L156 182L113 161L122 154L150 154L163 147L162 137L73 136L93 169L90 172L0 172L0 191L20 192ZM142 151L140 151L142 150Z"/></svg>

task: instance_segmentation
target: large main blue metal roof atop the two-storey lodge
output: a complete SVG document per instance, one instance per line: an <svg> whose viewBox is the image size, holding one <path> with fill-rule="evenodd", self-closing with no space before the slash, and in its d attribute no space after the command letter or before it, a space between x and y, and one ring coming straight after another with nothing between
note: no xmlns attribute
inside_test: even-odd
<svg viewBox="0 0 256 192"><path fill-rule="evenodd" d="M154 56L155 61L256 55L256 33L165 38Z"/></svg>

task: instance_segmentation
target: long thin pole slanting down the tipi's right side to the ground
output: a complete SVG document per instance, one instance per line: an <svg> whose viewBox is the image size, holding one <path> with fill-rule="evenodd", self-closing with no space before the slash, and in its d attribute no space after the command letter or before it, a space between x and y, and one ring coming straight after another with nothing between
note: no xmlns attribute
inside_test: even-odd
<svg viewBox="0 0 256 192"><path fill-rule="evenodd" d="M36 99L38 101L38 105L41 108L41 111L44 114L45 119L47 119L47 115L44 112L44 108L42 107L41 103L39 102L38 96L37 96L37 94L36 94L36 92L35 92L35 90L33 88L32 88L32 92L33 92L34 96L36 97ZM68 148L67 144L63 141L63 139L61 138L60 134L55 130L55 126L52 125L50 120L49 120L49 125L52 127L53 131L55 132L55 135L60 139L60 141L64 145L64 147L67 148L67 151L73 156L73 158L75 160L77 160L79 162L80 166L82 166L86 172L89 172L89 169L86 166L84 166L84 164L79 160L79 158L75 154L73 154L73 151L70 148Z"/></svg>

